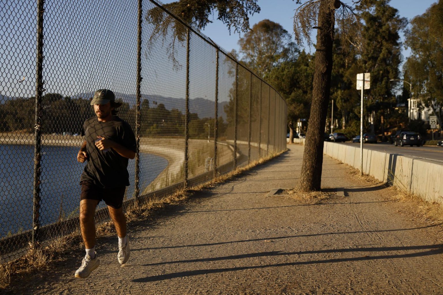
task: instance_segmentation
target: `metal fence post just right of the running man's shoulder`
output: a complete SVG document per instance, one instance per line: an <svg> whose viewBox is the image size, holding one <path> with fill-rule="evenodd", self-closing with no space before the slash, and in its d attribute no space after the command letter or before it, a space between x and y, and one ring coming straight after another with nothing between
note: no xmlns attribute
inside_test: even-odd
<svg viewBox="0 0 443 295"><path fill-rule="evenodd" d="M137 88L136 88L136 160L135 160L135 189L134 201L138 205L140 195L140 103L141 103L141 17L142 0L138 0L138 24L137 24Z"/></svg>

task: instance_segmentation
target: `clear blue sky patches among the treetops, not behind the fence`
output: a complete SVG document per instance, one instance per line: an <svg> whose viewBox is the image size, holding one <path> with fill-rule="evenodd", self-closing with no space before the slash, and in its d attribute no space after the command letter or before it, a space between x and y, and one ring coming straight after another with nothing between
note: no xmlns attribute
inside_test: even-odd
<svg viewBox="0 0 443 295"><path fill-rule="evenodd" d="M163 3L171 3L172 0L164 0ZM345 1L346 2L346 1ZM348 2L351 2L348 0ZM400 16L412 19L416 15L423 14L431 4L436 0L391 0L390 5L398 9ZM261 8L260 13L254 14L250 17L250 26L258 23L262 19L270 19L276 23L280 23L286 31L293 33L293 17L294 10L299 6L292 0L258 0L258 5ZM350 3L351 4L351 3ZM214 42L220 45L227 51L232 49L239 51L238 34L229 35L225 24L217 19L217 12L213 15L213 23L210 23L203 31L206 36L211 38ZM401 34L403 38L403 34ZM315 40L314 40L315 41ZM307 48L307 51L309 48ZM404 50L403 55L406 58L410 54L409 50Z"/></svg>

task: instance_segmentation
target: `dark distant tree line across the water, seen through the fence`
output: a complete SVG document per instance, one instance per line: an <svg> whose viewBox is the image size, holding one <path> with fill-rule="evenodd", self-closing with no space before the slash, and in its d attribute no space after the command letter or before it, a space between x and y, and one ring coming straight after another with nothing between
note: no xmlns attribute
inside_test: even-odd
<svg viewBox="0 0 443 295"><path fill-rule="evenodd" d="M135 126L136 106L122 102L118 116ZM163 103L143 100L140 106L141 136L184 136L185 114L177 109L168 110ZM43 124L45 134L80 134L86 119L94 116L90 99L63 97L59 93L43 96ZM0 132L33 132L35 120L35 97L8 100L0 105ZM214 118L198 118L198 114L189 114L190 138L214 137ZM225 136L227 123L218 118L218 134ZM212 131L211 131L212 130ZM209 132L208 132L209 131Z"/></svg>

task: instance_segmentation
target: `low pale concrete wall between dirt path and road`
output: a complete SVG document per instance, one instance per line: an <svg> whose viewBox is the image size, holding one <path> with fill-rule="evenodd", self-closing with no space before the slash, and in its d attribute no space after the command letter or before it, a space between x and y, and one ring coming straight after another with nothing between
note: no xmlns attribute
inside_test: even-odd
<svg viewBox="0 0 443 295"><path fill-rule="evenodd" d="M324 144L326 155L360 169L359 147L335 142ZM426 201L443 204L443 162L363 149L363 173Z"/></svg>

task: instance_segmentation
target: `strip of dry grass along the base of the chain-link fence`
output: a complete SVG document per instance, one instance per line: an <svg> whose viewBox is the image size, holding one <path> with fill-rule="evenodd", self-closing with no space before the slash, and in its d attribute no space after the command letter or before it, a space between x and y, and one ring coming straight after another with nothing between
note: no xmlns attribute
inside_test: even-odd
<svg viewBox="0 0 443 295"><path fill-rule="evenodd" d="M241 167L222 176L218 176L216 179L205 184L201 184L189 189L183 189L166 197L153 197L148 202L144 202L140 205L133 205L132 207L127 208L125 212L127 223L130 224L133 221L143 220L161 209L183 203L189 199L191 191L199 191L205 188L214 187L216 184L229 180L256 165L262 164L274 157L279 156L284 152L285 151L280 153L271 153L268 157L262 158L259 161L254 161L247 166ZM97 239L115 235L115 228L112 221L97 225L96 228ZM46 246L38 245L37 247L31 247L31 249L19 259L6 263L0 263L0 291L10 287L12 282L17 282L18 284L19 281L26 280L35 272L44 272L49 270L51 264L55 261L66 261L67 256L74 255L74 251L83 248L84 244L80 233L74 232L67 236L55 238Z"/></svg>

